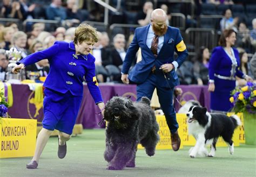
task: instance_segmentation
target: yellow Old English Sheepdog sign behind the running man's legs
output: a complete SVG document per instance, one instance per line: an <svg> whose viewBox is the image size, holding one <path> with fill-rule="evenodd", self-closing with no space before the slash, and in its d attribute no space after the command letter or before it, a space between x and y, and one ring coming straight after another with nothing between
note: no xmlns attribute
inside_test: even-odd
<svg viewBox="0 0 256 177"><path fill-rule="evenodd" d="M157 117L157 123L159 125L158 134L160 136L160 140L157 144L156 149L157 150L171 150L172 149L171 132L170 132L170 130L168 128L168 125L166 123L165 116L157 115L156 117ZM178 124L179 124L178 132L179 132L180 138L181 138L182 130L184 129L183 128L183 126L184 126L183 117L184 117L184 115L177 114L177 121L178 121ZM186 118L186 115L185 115L185 118ZM144 147L139 144L138 148L143 149ZM182 140L181 140L180 148L183 148L183 141Z"/></svg>

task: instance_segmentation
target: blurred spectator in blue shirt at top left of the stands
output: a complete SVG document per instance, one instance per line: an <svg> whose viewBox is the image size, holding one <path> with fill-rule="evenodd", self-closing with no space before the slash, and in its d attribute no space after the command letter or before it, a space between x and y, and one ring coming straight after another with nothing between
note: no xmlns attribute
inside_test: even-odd
<svg viewBox="0 0 256 177"><path fill-rule="evenodd" d="M52 0L52 3L46 8L46 18L49 20L65 20L66 10L62 7L61 0Z"/></svg>

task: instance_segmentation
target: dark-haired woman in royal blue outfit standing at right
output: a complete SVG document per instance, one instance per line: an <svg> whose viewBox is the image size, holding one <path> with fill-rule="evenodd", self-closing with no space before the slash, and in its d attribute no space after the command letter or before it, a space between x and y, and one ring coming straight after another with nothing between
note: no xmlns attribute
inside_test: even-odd
<svg viewBox="0 0 256 177"><path fill-rule="evenodd" d="M228 112L232 108L230 93L235 88L235 76L253 81L241 70L239 53L234 48L236 33L234 30L224 30L219 39L218 47L212 51L209 63L209 86L211 91L211 110L214 112Z"/></svg>

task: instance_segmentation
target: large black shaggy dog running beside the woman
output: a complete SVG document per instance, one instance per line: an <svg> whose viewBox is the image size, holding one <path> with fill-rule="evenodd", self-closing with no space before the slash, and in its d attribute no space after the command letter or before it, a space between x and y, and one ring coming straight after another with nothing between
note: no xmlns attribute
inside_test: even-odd
<svg viewBox="0 0 256 177"><path fill-rule="evenodd" d="M104 119L107 121L104 152L109 162L107 169L135 167L139 143L145 147L147 155L154 155L159 126L149 98L132 102L130 98L114 96L106 103Z"/></svg>

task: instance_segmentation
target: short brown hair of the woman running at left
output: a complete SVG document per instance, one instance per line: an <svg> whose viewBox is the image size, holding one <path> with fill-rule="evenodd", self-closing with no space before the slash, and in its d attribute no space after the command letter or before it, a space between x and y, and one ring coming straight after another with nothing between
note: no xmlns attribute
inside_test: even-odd
<svg viewBox="0 0 256 177"><path fill-rule="evenodd" d="M74 43L82 44L84 41L93 41L97 43L99 37L95 27L92 27L89 24L83 23L80 24L75 31Z"/></svg>

